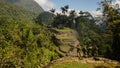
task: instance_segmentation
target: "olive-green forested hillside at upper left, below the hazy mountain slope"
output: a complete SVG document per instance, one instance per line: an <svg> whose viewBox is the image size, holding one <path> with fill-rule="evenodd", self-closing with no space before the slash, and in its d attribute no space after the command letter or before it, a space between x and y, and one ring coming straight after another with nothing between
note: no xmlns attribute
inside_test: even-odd
<svg viewBox="0 0 120 68"><path fill-rule="evenodd" d="M23 9L15 4L0 0L0 17L12 18L16 21L29 22L35 18L36 14Z"/></svg>

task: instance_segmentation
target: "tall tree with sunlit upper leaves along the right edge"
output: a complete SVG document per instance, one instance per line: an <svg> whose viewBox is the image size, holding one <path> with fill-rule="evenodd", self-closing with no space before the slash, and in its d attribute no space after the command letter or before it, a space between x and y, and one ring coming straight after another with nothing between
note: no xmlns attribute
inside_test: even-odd
<svg viewBox="0 0 120 68"><path fill-rule="evenodd" d="M101 3L103 16L108 27L108 32L112 36L112 56L120 60L120 12L117 6L112 6L112 0L104 0Z"/></svg>

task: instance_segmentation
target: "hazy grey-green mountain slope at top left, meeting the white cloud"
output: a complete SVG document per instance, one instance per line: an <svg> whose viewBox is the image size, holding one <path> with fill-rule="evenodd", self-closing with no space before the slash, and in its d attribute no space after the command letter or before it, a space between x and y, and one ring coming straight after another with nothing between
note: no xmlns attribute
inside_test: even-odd
<svg viewBox="0 0 120 68"><path fill-rule="evenodd" d="M34 0L6 0L12 4L23 7L27 11L40 14L44 10Z"/></svg>

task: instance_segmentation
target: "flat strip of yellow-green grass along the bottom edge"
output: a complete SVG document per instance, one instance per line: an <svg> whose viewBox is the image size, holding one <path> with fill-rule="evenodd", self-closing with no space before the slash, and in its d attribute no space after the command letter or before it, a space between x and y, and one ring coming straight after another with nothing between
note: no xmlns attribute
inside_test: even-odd
<svg viewBox="0 0 120 68"><path fill-rule="evenodd" d="M115 64L99 64L99 63L80 63L80 62L61 62L53 64L50 68L120 68Z"/></svg>

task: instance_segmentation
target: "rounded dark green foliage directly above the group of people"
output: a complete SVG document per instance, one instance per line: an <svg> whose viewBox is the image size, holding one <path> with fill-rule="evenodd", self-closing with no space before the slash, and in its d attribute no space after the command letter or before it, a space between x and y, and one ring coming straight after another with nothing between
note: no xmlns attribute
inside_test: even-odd
<svg viewBox="0 0 120 68"><path fill-rule="evenodd" d="M98 34L97 25L87 17L77 19L76 29L79 32L81 45L99 45L100 35Z"/></svg>

